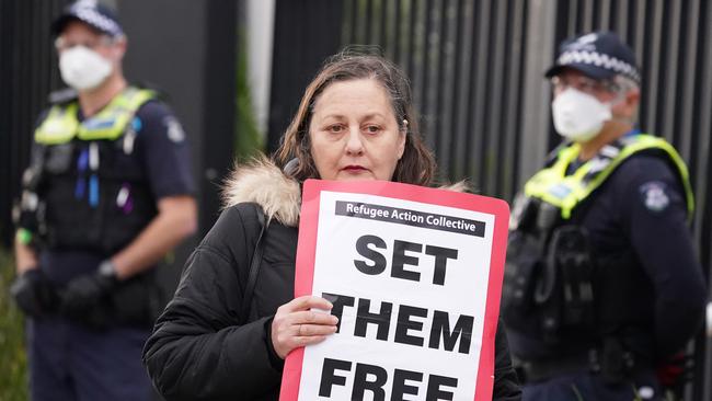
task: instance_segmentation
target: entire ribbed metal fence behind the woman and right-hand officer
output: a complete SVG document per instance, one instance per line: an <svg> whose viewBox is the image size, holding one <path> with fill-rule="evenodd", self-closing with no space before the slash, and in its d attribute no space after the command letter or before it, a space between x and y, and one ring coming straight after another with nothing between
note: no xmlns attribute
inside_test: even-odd
<svg viewBox="0 0 712 401"><path fill-rule="evenodd" d="M277 2L280 8L289 1ZM303 4L313 4L302 1ZM485 195L512 199L559 141L551 127L550 90L543 71L558 43L597 30L618 32L635 50L643 76L640 127L665 137L688 162L697 214L694 236L709 277L712 185L712 5L704 0L342 0L341 46L377 45L412 80L422 130L435 150L441 177L468 177ZM330 20L331 21L331 20ZM279 27L278 27L279 28ZM300 19L283 32L307 28ZM328 36L328 35L324 35ZM308 45L323 46L312 38ZM294 45L292 45L294 46ZM332 53L338 48L331 46ZM275 42L275 58L287 47ZM279 113L294 113L315 72L283 82ZM300 73L298 78L296 75ZM275 88L273 85L273 88ZM275 112L275 111L273 111ZM275 116L276 114L273 114ZM271 144L287 125L271 125ZM274 147L273 147L274 148ZM696 350L696 385L689 400L710 400L709 347ZM705 354L705 350L707 354ZM705 362L707 358L707 362Z"/></svg>

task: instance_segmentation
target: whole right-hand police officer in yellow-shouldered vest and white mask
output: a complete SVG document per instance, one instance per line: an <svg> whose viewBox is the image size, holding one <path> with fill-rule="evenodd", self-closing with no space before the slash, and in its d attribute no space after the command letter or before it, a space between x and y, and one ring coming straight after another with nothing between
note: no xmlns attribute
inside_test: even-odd
<svg viewBox="0 0 712 401"><path fill-rule="evenodd" d="M564 140L515 200L503 289L524 400L659 400L655 367L705 303L687 168L635 128L640 72L616 34L564 42L546 76Z"/></svg>

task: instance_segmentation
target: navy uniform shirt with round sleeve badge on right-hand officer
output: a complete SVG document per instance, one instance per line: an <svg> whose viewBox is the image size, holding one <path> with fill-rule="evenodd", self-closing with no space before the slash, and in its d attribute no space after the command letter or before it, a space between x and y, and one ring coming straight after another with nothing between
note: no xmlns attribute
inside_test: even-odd
<svg viewBox="0 0 712 401"><path fill-rule="evenodd" d="M664 159L639 154L589 200L572 217L583 211L598 262L599 329L622 330L628 346L653 359L680 351L707 291L679 179Z"/></svg>

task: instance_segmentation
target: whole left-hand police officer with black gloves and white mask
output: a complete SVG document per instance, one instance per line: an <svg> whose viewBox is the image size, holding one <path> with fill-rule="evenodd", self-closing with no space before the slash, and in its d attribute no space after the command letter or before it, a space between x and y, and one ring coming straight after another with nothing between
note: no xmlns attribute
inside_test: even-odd
<svg viewBox="0 0 712 401"><path fill-rule="evenodd" d="M154 267L196 229L185 135L156 92L127 83L110 9L71 4L53 34L73 94L34 133L11 288L30 318L32 398L147 400Z"/></svg>

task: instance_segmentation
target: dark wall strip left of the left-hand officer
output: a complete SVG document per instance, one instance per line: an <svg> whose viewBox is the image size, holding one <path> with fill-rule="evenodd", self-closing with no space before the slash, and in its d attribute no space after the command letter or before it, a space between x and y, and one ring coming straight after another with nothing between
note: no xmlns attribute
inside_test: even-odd
<svg viewBox="0 0 712 401"><path fill-rule="evenodd" d="M49 26L67 0L0 0L0 239L9 245L12 199L30 157L35 119L59 89Z"/></svg>

